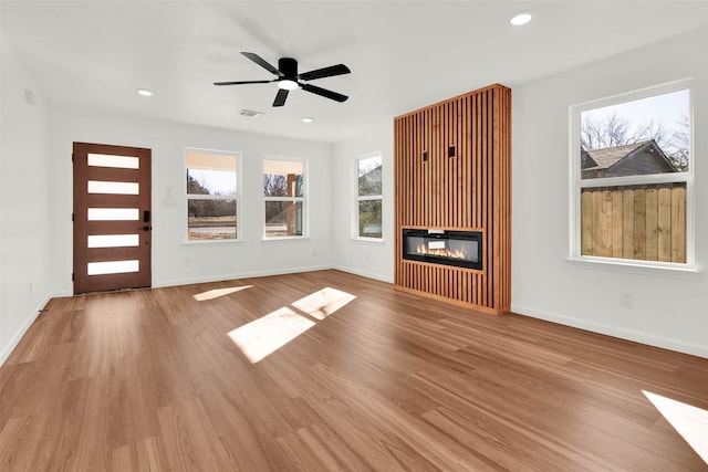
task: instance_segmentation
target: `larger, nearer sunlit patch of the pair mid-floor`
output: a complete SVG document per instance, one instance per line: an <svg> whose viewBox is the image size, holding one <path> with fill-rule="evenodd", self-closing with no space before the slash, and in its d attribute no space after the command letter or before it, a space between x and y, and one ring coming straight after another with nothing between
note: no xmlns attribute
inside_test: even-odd
<svg viewBox="0 0 708 472"><path fill-rule="evenodd" d="M312 319L282 307L229 332L243 355L256 364L314 326Z"/></svg>

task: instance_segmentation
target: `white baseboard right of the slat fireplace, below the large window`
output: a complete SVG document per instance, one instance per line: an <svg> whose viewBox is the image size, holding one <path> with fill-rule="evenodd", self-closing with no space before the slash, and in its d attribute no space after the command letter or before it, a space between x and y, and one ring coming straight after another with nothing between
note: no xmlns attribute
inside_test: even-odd
<svg viewBox="0 0 708 472"><path fill-rule="evenodd" d="M556 313L544 312L544 311L531 308L528 306L514 305L513 303L511 304L511 311L519 315L530 316L539 319L545 319L546 322L553 322L560 325L585 329L593 333L600 333L600 334L604 334L612 337L618 337L621 339L633 340L635 343L642 343L642 344L646 344L654 347L660 347L664 349L676 350L677 353L690 354L691 356L708 358L708 346L700 346L697 344L684 343L677 339L656 336L653 334L637 332L634 329L624 329L617 326L592 323L586 319L580 319L571 316L559 315Z"/></svg>

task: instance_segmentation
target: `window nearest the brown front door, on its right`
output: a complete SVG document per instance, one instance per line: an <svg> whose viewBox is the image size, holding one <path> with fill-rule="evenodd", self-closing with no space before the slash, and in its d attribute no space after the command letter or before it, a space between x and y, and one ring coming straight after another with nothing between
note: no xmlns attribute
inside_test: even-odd
<svg viewBox="0 0 708 472"><path fill-rule="evenodd" d="M187 240L239 238L238 153L187 149Z"/></svg>

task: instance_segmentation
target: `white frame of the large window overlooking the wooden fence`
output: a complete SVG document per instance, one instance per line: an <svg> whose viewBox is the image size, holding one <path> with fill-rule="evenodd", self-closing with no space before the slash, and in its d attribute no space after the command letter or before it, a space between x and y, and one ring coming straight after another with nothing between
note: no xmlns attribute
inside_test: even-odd
<svg viewBox="0 0 708 472"><path fill-rule="evenodd" d="M627 177L605 177L595 179L581 178L581 113L594 108L601 108L610 105L632 102L642 98L648 98L656 95L688 90L688 133L689 133L689 156L690 161L687 171L671 174L654 174L644 176ZM649 86L633 92L622 93L605 98L573 105L569 108L570 120L570 185L569 201L570 204L570 254L568 260L573 263L592 263L601 264L605 268L622 269L629 271L638 270L641 273L648 273L650 270L658 269L669 271L688 271L696 272L695 259L695 190L694 174L696 168L696 155L694 153L694 87L691 78L684 78L669 82L656 86ZM633 185L652 185L665 182L685 182L686 183L686 262L658 262L643 261L635 259L603 258L596 255L582 255L581 247L581 191L583 188L593 187L621 187Z"/></svg>

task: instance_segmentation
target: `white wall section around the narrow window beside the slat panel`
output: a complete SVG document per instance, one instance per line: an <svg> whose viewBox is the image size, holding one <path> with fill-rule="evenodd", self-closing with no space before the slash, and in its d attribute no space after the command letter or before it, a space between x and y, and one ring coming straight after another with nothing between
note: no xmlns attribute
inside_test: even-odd
<svg viewBox="0 0 708 472"><path fill-rule="evenodd" d="M336 269L394 281L394 140L393 117L374 124L356 138L335 145L333 244ZM382 154L383 242L355 239L353 229L356 207L355 159L363 155Z"/></svg>

